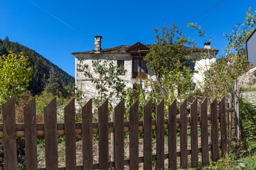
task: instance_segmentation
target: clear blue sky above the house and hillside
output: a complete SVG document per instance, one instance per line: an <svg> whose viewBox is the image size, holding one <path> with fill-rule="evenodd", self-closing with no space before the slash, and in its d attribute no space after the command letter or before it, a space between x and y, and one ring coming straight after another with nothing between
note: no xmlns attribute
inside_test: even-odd
<svg viewBox="0 0 256 170"><path fill-rule="evenodd" d="M0 38L19 42L40 53L68 74L75 76L75 57L71 52L94 49L94 36L102 35L102 48L154 43L154 29L180 25L206 11L194 23L213 35L222 54L235 23L244 21L255 0L180 1L65 1L0 0ZM190 22L192 22L190 21ZM203 39L191 28L183 32L203 47Z"/></svg>

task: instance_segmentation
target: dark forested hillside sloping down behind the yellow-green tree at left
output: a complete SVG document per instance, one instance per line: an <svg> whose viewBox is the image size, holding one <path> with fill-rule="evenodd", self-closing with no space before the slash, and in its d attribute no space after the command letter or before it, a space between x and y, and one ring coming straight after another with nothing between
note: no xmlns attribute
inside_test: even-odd
<svg viewBox="0 0 256 170"><path fill-rule="evenodd" d="M0 56L8 55L9 50L16 54L23 52L23 55L28 56L28 61L32 67L31 81L29 82L28 90L31 91L33 96L40 94L43 91L46 86L46 82L50 77L51 69L54 69L55 74L63 80L66 86L74 84L74 77L64 72L63 69L60 69L57 65L38 54L35 50L31 50L28 47L20 45L18 42L11 42L8 37L4 40L0 39Z"/></svg>

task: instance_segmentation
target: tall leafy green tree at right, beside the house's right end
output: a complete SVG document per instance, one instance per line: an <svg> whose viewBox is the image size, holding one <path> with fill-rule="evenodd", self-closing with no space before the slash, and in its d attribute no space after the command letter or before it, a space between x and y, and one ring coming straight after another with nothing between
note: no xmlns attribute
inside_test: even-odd
<svg viewBox="0 0 256 170"><path fill-rule="evenodd" d="M256 13L252 9L246 12L245 21L237 23L230 34L225 34L228 45L225 47L225 54L211 64L206 72L202 84L201 95L222 98L228 92L233 91L235 79L244 73L250 65L246 60L245 40L252 30L255 29ZM206 31L196 24L189 24L196 28L200 37L205 38Z"/></svg>

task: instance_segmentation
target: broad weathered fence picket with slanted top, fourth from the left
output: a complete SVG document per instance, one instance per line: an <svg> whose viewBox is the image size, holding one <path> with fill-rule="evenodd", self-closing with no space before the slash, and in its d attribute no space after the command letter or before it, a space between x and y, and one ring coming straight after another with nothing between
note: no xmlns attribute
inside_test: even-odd
<svg viewBox="0 0 256 170"><path fill-rule="evenodd" d="M64 108L65 112L65 166L66 169L75 169L75 99Z"/></svg>

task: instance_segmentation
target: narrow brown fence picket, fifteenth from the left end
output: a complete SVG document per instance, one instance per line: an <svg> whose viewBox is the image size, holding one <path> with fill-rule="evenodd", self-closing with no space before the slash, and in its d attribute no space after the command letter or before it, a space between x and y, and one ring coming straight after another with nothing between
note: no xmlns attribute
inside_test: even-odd
<svg viewBox="0 0 256 170"><path fill-rule="evenodd" d="M212 142L212 160L215 162L218 160L218 113L217 113L217 99L215 98L210 103L210 139Z"/></svg>

